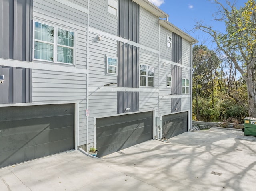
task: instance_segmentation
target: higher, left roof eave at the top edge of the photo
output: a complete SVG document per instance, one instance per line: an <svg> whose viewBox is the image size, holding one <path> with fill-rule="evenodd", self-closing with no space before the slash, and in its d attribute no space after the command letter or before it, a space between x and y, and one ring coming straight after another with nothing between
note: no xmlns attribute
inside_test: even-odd
<svg viewBox="0 0 256 191"><path fill-rule="evenodd" d="M144 9L148 10L149 12L154 14L155 16L158 16L158 17L160 17L162 19L169 17L169 15L167 13L163 12L162 10L160 10L157 6L155 6L154 4L150 3L148 0L132 0L132 1L137 3L137 4L139 4Z"/></svg>

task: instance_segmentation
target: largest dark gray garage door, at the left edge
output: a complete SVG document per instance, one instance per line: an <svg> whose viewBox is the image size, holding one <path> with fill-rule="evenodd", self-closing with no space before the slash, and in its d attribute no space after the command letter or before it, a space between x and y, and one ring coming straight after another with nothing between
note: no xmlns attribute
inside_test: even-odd
<svg viewBox="0 0 256 191"><path fill-rule="evenodd" d="M0 167L74 148L74 104L0 107Z"/></svg>

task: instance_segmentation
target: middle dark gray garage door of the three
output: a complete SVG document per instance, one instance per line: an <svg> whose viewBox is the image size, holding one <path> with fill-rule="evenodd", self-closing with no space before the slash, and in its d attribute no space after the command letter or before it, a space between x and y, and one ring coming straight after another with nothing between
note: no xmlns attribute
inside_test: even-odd
<svg viewBox="0 0 256 191"><path fill-rule="evenodd" d="M153 112L96 119L97 156L102 157L152 139Z"/></svg>

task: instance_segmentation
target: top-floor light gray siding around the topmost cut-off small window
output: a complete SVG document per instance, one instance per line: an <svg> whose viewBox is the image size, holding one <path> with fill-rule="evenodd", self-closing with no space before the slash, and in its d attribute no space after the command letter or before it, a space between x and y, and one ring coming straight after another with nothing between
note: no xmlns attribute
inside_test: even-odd
<svg viewBox="0 0 256 191"><path fill-rule="evenodd" d="M90 27L117 35L117 20L107 12L107 0L90 0Z"/></svg>

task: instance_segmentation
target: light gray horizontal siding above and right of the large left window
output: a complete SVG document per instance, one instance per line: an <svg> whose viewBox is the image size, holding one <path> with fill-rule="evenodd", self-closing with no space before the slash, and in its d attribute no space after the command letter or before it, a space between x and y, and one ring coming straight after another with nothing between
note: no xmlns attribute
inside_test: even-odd
<svg viewBox="0 0 256 191"><path fill-rule="evenodd" d="M87 14L54 0L34 0L33 18L38 22L76 32L76 67L86 69Z"/></svg>

